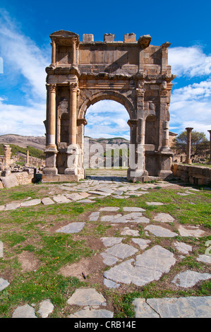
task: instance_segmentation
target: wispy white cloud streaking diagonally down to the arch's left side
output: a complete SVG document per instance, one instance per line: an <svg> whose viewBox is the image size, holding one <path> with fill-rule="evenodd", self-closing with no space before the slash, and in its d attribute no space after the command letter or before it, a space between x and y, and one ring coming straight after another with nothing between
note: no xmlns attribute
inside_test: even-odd
<svg viewBox="0 0 211 332"><path fill-rule="evenodd" d="M28 81L30 95L46 98L45 67L49 64L46 54L35 42L20 31L6 11L0 13L1 57L8 64L10 76L20 73Z"/></svg>

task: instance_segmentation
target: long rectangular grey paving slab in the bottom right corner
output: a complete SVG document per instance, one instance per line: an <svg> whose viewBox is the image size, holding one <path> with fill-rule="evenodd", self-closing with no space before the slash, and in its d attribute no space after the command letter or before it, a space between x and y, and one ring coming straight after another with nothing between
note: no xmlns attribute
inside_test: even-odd
<svg viewBox="0 0 211 332"><path fill-rule="evenodd" d="M135 318L211 318L209 296L135 299L133 305Z"/></svg>

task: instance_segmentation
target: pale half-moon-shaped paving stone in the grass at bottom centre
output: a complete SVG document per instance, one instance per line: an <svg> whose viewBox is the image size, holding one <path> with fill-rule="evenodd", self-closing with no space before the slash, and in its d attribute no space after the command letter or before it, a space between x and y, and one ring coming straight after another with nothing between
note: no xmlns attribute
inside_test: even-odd
<svg viewBox="0 0 211 332"><path fill-rule="evenodd" d="M106 306L106 300L95 290L95 288L78 288L76 292L73 293L71 297L69 297L67 303L69 305L80 305L80 306L95 306L102 305Z"/></svg>

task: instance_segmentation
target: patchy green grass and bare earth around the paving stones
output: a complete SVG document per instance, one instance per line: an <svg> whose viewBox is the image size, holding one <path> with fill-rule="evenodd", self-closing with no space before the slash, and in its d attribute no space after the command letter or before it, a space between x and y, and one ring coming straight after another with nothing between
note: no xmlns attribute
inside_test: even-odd
<svg viewBox="0 0 211 332"><path fill-rule="evenodd" d="M2 189L0 205L11 201L21 201L25 198L43 198L56 189L56 184L28 184L12 189ZM177 190L177 191L183 191ZM179 196L175 189L157 189L153 187L149 194L140 197L131 196L130 199L116 199L111 197L98 198L96 203L84 204L68 203L54 204L52 206L34 206L31 208L18 208L15 211L0 212L0 240L4 244L4 257L0 258L0 278L9 280L10 285L0 292L0 317L11 317L17 306L25 303L35 304L50 299L54 304L51 317L66 317L71 313L66 304L68 297L78 287L95 287L102 292L107 303L114 309L115 317L133 317L132 300L135 297L181 297L181 296L207 296L211 295L211 282L205 281L191 289L181 289L170 285L170 279L179 271L193 269L194 271L209 272L205 263L196 261L198 254L205 254L206 243L211 237L182 238L179 234L176 240L186 242L193 246L190 256L179 259L170 275L163 275L161 280L152 282L143 287L125 285L121 290L110 290L102 283L92 282L92 277L79 280L75 277L64 277L60 273L66 264L76 263L83 258L95 259L102 251L97 247L100 237L119 236L119 231L107 223L90 222L88 215L97 211L101 206L139 206L145 208L147 218L157 212L170 213L178 224L200 225L203 230L211 229L211 194L210 191L195 191L194 195ZM165 206L147 206L146 201L162 201ZM121 210L120 210L121 211ZM56 233L59 225L71 221L85 221L86 225L80 235L67 235ZM170 225L169 225L170 226ZM174 226L174 225L171 225ZM172 246L175 239L146 237L143 225L139 226L140 237L151 239L152 247L160 244L174 252L179 252ZM174 230L178 232L178 230ZM131 237L126 237L125 243ZM24 257L31 257L34 267L23 268ZM21 263L22 259L22 263ZM103 271L98 271L103 273Z"/></svg>

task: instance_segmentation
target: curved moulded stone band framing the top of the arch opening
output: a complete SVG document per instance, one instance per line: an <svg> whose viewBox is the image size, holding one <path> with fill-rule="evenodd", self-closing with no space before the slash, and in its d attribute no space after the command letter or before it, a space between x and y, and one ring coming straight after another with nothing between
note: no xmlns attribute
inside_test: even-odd
<svg viewBox="0 0 211 332"><path fill-rule="evenodd" d="M87 97L78 109L78 118L84 119L88 107L90 107L90 105L94 105L96 102L99 102L100 100L114 100L115 102L119 102L121 105L123 105L126 108L130 119L136 118L135 107L133 107L133 103L131 102L131 100L129 100L128 97L123 95L123 93L119 93L112 90L100 91Z"/></svg>

